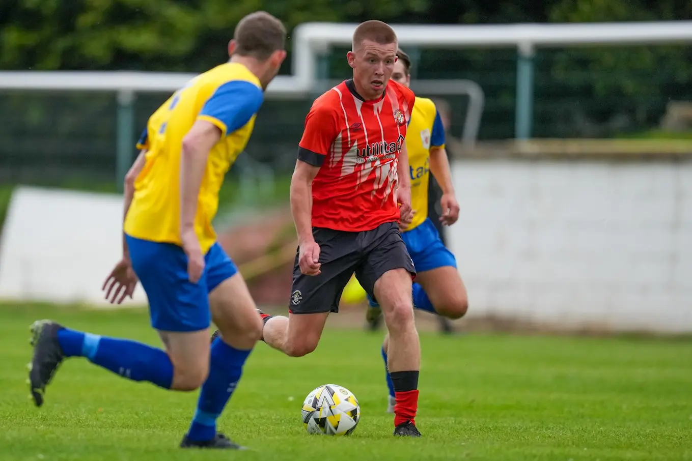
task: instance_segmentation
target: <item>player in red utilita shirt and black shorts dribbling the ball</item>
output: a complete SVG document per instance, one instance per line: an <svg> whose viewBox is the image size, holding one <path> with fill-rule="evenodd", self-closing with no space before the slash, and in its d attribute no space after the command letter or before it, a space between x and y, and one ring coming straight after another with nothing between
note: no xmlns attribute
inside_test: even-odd
<svg viewBox="0 0 692 461"><path fill-rule="evenodd" d="M415 96L390 81L398 48L390 26L361 23L352 46L353 78L318 97L305 119L291 180L300 247L289 317L262 314L264 341L292 357L315 350L355 272L379 301L390 334L394 435L419 437L415 268L398 225L411 216L405 138Z"/></svg>

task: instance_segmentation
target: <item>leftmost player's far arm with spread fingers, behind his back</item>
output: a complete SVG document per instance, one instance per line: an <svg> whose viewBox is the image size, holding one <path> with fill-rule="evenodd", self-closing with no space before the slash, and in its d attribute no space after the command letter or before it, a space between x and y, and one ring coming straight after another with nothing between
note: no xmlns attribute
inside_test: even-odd
<svg viewBox="0 0 692 461"><path fill-rule="evenodd" d="M129 171L125 175L125 185L124 189L124 211L122 214L122 219L125 220L127 216L127 211L132 203L132 198L134 198L134 183L139 176L139 173L144 168L147 162L147 149L142 149L137 156L136 160L130 167ZM113 270L106 277L103 282L101 290L106 292L105 299L107 299L111 304L120 304L125 301L126 297L132 299L132 294L137 286L137 276L132 270L132 263L129 258L129 250L127 248L127 241L125 241L125 232L122 233L122 258L113 267Z"/></svg>

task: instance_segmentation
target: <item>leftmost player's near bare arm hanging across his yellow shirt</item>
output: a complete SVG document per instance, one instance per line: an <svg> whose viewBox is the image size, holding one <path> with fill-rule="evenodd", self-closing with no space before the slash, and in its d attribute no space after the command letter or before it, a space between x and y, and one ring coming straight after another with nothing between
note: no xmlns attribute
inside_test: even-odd
<svg viewBox="0 0 692 461"><path fill-rule="evenodd" d="M206 120L197 120L183 138L180 165L180 234L188 255L188 276L197 283L204 270L204 256L194 232L194 216L209 151L221 139L221 130Z"/></svg>

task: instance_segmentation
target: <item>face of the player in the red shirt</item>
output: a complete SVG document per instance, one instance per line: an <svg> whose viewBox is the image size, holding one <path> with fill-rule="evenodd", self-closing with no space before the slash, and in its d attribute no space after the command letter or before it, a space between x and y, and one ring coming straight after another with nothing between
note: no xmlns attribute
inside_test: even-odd
<svg viewBox="0 0 692 461"><path fill-rule="evenodd" d="M358 92L367 100L377 99L384 93L397 61L397 44L381 45L363 40L360 46L347 55L353 68L353 79Z"/></svg>

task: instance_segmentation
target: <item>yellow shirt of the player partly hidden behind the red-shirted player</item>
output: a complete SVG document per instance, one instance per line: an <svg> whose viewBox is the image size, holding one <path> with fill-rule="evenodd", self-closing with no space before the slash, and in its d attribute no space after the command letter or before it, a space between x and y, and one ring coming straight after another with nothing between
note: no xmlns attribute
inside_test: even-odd
<svg viewBox="0 0 692 461"><path fill-rule="evenodd" d="M428 218L430 149L433 147L444 147L442 121L434 102L426 97L416 97L406 132L406 149L411 177L411 207L415 210L407 231L415 229Z"/></svg>

